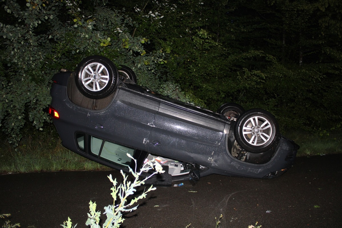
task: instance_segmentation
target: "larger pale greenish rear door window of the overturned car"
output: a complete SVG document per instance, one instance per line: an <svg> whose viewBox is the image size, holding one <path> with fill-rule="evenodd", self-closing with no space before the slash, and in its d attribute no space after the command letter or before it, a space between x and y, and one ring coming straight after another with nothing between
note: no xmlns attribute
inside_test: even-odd
<svg viewBox="0 0 342 228"><path fill-rule="evenodd" d="M132 159L127 156L127 153L133 157L135 151L132 148L104 141L94 136L91 136L90 148L94 155L100 155L102 159L123 166L129 166L131 164Z"/></svg>

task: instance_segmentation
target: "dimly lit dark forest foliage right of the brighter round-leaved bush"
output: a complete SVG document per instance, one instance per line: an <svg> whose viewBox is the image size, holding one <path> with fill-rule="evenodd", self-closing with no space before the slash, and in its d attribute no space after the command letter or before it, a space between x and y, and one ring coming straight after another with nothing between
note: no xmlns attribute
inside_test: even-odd
<svg viewBox="0 0 342 228"><path fill-rule="evenodd" d="M340 126L339 1L175 2L164 29L145 36L169 53L170 79L183 91L211 110L226 102L264 108L283 129Z"/></svg>

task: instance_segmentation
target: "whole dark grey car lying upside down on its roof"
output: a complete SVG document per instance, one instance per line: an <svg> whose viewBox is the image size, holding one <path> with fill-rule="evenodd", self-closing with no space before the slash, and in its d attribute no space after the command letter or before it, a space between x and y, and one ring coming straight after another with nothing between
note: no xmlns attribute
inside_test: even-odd
<svg viewBox="0 0 342 228"><path fill-rule="evenodd" d="M49 109L63 146L128 172L157 158L172 181L209 174L273 178L293 164L299 146L261 109L227 103L217 112L161 96L134 72L90 56L75 72L53 76Z"/></svg>

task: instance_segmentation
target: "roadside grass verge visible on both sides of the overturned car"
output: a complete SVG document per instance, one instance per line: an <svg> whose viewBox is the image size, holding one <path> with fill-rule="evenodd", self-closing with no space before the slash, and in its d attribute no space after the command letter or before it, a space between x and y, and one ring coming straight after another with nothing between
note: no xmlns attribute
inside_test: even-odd
<svg viewBox="0 0 342 228"><path fill-rule="evenodd" d="M43 132L26 130L17 148L0 137L0 173L49 172L62 170L110 170L64 148L53 127ZM297 156L342 153L342 133L319 136L307 132L287 132L300 145Z"/></svg>

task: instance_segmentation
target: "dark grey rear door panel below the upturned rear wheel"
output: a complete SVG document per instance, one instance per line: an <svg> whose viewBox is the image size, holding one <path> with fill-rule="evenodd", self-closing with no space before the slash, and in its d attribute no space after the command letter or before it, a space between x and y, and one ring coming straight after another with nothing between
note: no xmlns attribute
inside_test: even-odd
<svg viewBox="0 0 342 228"><path fill-rule="evenodd" d="M159 102L125 88L103 110L89 112L87 131L121 145L146 149Z"/></svg>

